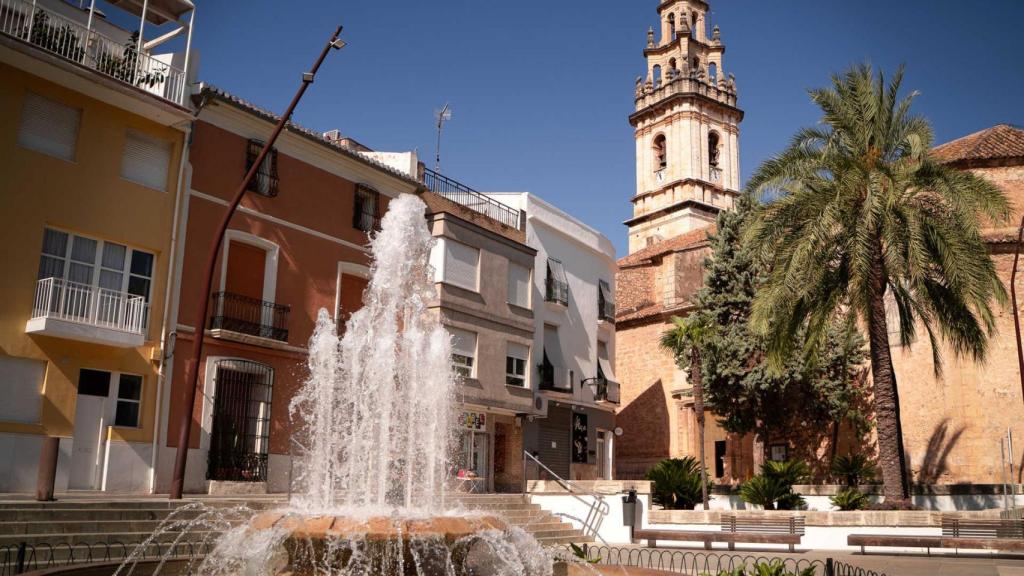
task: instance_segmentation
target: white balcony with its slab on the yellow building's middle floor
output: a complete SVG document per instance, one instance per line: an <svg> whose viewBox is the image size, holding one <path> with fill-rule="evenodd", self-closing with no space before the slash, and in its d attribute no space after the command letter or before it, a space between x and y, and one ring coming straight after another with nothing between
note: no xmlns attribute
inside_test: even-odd
<svg viewBox="0 0 1024 576"><path fill-rule="evenodd" d="M41 334L117 347L145 340L146 304L142 296L76 284L59 278L36 283L28 334Z"/></svg>

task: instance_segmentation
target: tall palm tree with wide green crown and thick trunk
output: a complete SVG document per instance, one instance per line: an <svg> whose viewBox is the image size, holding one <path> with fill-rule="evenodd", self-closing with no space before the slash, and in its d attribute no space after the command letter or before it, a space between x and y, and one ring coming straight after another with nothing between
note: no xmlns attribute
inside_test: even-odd
<svg viewBox="0 0 1024 576"><path fill-rule="evenodd" d="M905 499L908 487L887 299L900 345L910 345L919 326L928 334L937 376L940 337L956 356L983 361L991 302L1005 303L1006 290L979 222L1009 214L996 187L932 157L931 125L910 113L915 92L900 98L902 78L900 68L887 83L864 65L811 90L821 123L797 132L755 173L750 190L774 200L755 210L744 236L770 270L751 320L773 366L804 327L806 355L838 314L866 327L889 501Z"/></svg>

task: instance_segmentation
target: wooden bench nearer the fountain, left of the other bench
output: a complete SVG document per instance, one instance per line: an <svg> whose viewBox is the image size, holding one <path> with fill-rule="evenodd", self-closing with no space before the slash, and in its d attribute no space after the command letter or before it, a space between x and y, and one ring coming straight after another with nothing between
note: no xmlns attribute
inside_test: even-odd
<svg viewBox="0 0 1024 576"><path fill-rule="evenodd" d="M647 540L650 547L657 546L658 540L680 542L703 542L711 549L712 542L726 542L729 549L736 549L736 542L744 544L787 544L790 551L796 549L804 535L804 517L786 516L773 518L737 517L722 515L721 531L710 530L635 530L633 537Z"/></svg>

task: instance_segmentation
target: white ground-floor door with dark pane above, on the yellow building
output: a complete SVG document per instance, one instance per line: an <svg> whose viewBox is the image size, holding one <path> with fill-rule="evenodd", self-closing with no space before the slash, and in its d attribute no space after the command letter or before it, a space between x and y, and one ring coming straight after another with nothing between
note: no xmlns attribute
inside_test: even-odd
<svg viewBox="0 0 1024 576"><path fill-rule="evenodd" d="M78 378L78 400L75 403L75 438L72 442L71 474L68 487L75 490L97 490L103 457L103 430L106 429L106 398L110 396L111 373L82 370Z"/></svg>

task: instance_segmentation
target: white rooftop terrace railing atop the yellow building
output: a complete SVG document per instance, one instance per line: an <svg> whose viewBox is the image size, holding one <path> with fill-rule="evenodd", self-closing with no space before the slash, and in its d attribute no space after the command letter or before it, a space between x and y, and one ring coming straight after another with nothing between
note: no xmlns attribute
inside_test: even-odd
<svg viewBox="0 0 1024 576"><path fill-rule="evenodd" d="M27 0L0 0L0 34L182 105L184 72L139 52L138 37L117 42L95 30Z"/></svg>

